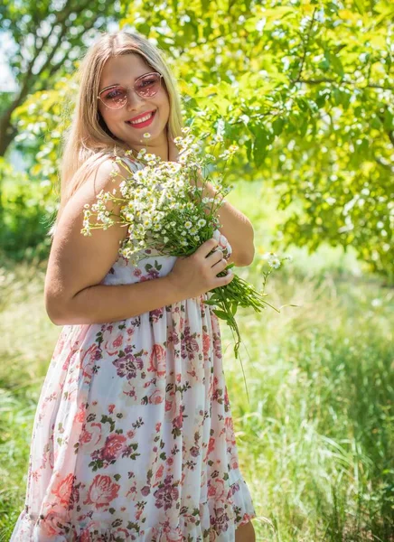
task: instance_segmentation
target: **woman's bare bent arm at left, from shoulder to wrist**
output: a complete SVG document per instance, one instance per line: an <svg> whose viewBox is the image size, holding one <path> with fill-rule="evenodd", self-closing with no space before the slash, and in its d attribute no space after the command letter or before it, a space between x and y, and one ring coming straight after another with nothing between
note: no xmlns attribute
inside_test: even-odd
<svg viewBox="0 0 394 542"><path fill-rule="evenodd" d="M113 168L121 175L112 179ZM119 243L127 229L114 225L94 229L90 237L80 233L85 203L95 203L98 192L119 189L128 173L108 161L98 167L70 198L53 238L45 276L45 307L57 325L117 322L184 299L167 276L132 285L102 285L117 259ZM108 209L110 204L108 202ZM118 206L112 205L115 214Z"/></svg>

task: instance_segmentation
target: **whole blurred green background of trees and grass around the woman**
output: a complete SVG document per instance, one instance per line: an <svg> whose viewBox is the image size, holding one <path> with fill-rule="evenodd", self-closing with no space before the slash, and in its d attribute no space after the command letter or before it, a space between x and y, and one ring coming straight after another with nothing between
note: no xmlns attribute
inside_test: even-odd
<svg viewBox="0 0 394 542"><path fill-rule="evenodd" d="M60 328L43 305L73 73L100 32L143 33L186 124L239 145L228 200L255 229L226 381L259 541L394 540L394 5L3 0L0 540L23 509L33 416ZM268 265L273 252L282 264ZM295 304L294 306L283 306Z"/></svg>

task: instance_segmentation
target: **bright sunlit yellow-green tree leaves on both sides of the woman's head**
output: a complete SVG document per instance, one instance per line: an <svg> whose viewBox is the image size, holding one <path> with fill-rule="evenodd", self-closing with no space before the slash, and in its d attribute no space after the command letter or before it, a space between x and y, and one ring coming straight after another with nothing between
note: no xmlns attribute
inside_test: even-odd
<svg viewBox="0 0 394 542"><path fill-rule="evenodd" d="M229 181L275 186L291 210L277 245L352 247L392 283L393 15L385 0L136 0L122 24L164 51L185 117L240 146ZM51 179L67 80L14 117L40 141L37 167Z"/></svg>

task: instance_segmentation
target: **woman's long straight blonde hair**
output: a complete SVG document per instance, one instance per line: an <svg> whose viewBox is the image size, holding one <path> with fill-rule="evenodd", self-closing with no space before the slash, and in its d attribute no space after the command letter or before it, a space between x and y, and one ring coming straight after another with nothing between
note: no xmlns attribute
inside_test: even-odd
<svg viewBox="0 0 394 542"><path fill-rule="evenodd" d="M128 148L109 132L98 112L97 95L101 73L108 59L130 53L140 54L150 68L163 75L170 102L167 135L170 140L182 135L181 98L162 51L139 33L126 31L103 33L98 42L89 48L77 72L80 89L70 128L64 135L60 207L49 231L52 237L61 217L61 211L72 194L87 181L89 174L112 156L115 149L117 154L121 155L122 151Z"/></svg>

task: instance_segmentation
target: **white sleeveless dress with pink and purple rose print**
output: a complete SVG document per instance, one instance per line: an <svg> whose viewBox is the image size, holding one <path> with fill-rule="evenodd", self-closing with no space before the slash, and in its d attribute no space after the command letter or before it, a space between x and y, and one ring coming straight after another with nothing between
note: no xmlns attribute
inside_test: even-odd
<svg viewBox="0 0 394 542"><path fill-rule="evenodd" d="M119 256L102 284L165 276L176 260L144 256ZM209 296L62 328L10 542L233 542L256 517Z"/></svg>

